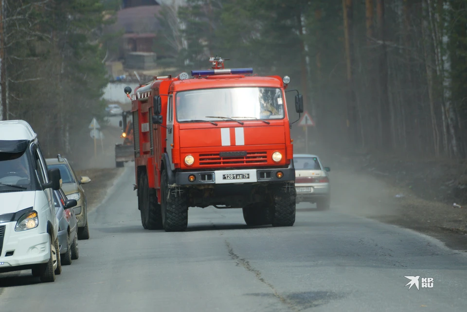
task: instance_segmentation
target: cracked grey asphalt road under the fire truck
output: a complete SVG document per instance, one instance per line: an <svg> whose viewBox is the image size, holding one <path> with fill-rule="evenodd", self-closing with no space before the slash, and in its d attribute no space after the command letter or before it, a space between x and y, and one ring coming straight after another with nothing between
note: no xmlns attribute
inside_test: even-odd
<svg viewBox="0 0 467 312"><path fill-rule="evenodd" d="M435 239L306 205L287 228L191 208L186 232L145 231L133 183L128 165L54 283L0 275L0 311L466 311L467 257Z"/></svg>

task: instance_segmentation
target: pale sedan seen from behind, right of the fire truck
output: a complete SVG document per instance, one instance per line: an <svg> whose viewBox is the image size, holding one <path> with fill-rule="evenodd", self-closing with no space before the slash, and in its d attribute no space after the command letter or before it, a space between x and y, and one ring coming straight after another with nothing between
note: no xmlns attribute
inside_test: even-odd
<svg viewBox="0 0 467 312"><path fill-rule="evenodd" d="M293 155L295 167L295 190L297 203L316 203L318 210L329 209L331 192L329 185L329 167L324 167L316 155Z"/></svg>

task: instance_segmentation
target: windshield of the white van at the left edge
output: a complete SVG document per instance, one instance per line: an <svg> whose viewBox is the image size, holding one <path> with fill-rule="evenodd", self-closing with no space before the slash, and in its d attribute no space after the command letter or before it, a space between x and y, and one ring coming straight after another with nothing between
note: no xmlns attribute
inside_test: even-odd
<svg viewBox="0 0 467 312"><path fill-rule="evenodd" d="M0 153L0 188L4 184L27 187L31 183L26 152Z"/></svg>

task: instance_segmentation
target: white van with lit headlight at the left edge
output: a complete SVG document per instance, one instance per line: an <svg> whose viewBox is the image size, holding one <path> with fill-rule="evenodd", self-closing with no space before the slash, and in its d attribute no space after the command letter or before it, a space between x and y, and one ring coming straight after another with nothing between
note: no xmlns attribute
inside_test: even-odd
<svg viewBox="0 0 467 312"><path fill-rule="evenodd" d="M53 190L37 135L23 120L0 121L0 273L31 269L42 282L61 273Z"/></svg>

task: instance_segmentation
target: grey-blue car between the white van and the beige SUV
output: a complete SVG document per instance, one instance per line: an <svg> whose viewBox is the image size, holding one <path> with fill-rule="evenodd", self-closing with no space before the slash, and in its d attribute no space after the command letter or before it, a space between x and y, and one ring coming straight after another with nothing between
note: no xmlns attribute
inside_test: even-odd
<svg viewBox="0 0 467 312"><path fill-rule="evenodd" d="M78 219L72 207L76 200L69 200L62 189L54 191L55 215L58 219L58 248L62 265L72 264L79 257Z"/></svg>

